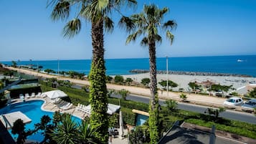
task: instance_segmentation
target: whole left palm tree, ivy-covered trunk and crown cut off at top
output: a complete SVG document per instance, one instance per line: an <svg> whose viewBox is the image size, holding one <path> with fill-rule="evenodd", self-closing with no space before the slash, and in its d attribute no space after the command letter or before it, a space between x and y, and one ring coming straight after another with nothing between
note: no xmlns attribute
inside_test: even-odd
<svg viewBox="0 0 256 144"><path fill-rule="evenodd" d="M77 16L67 22L63 29L64 37L73 37L80 32L81 20L90 21L93 45L93 60L90 69L90 104L92 113L90 124L98 127L96 136L103 142L108 142L108 97L105 82L104 34L112 32L113 21L108 16L114 9L120 10L123 5L133 6L136 0L52 0L48 5L54 5L52 19L66 20L70 15L70 7L75 6Z"/></svg>

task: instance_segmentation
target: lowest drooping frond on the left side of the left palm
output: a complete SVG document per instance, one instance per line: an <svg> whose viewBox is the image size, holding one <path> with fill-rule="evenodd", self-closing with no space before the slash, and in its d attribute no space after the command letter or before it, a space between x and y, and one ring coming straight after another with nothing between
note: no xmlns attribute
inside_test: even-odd
<svg viewBox="0 0 256 144"><path fill-rule="evenodd" d="M72 19L71 21L68 21L63 29L63 35L64 37L71 38L74 37L75 34L78 34L81 29L81 21L80 19Z"/></svg>

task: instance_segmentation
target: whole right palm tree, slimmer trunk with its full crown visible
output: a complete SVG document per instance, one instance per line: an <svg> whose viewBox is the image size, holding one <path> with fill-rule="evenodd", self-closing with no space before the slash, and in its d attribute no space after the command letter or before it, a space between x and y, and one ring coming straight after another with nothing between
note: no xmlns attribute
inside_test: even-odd
<svg viewBox="0 0 256 144"><path fill-rule="evenodd" d="M143 35L141 40L142 46L147 46L149 51L149 64L150 64L150 90L151 90L151 102L150 102L150 117L149 128L151 143L157 143L159 139L159 105L157 95L157 83L156 83L156 43L162 41L162 37L159 35L161 28L166 30L166 37L172 42L174 41L174 35L171 34L171 29L176 28L176 23L173 20L169 20L163 23L163 16L169 11L167 7L158 9L154 4L145 5L143 11L140 14L133 14L130 17L123 16L120 21L120 27L123 27L130 33L126 39L126 44L131 41L136 41L138 37Z"/></svg>

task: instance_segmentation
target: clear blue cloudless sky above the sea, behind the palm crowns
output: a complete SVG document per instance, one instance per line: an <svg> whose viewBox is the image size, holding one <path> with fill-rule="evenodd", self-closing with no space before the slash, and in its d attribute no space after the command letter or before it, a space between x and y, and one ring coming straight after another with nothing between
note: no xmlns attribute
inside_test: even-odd
<svg viewBox="0 0 256 144"><path fill-rule="evenodd" d="M143 4L169 7L166 19L178 24L173 45L162 34L157 57L256 54L255 0L138 0L135 12L140 12ZM65 22L52 21L52 9L46 5L47 0L0 0L0 61L92 57L90 24L83 22L80 34L65 39ZM117 23L118 14L113 19ZM105 34L105 58L148 57L140 39L125 45L127 36L118 26L112 34Z"/></svg>

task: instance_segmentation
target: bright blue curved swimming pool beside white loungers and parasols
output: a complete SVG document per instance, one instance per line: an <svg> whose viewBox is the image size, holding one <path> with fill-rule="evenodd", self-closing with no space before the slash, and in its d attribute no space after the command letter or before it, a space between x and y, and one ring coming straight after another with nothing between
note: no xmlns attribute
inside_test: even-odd
<svg viewBox="0 0 256 144"><path fill-rule="evenodd" d="M53 112L46 112L44 110L41 110L41 106L44 103L43 100L30 100L30 101L26 101L26 102L19 102L16 104L11 104L8 105L4 108L0 109L0 115L1 114L5 114L5 113L9 113L9 112L16 112L16 111L21 111L23 112L25 115L27 115L27 117L29 117L32 122L26 124L26 129L34 129L34 124L36 123L40 123L41 117L43 115L49 115L49 117L52 118ZM81 122L81 119L78 117L72 117L73 120L75 120L77 123ZM11 130L9 130L9 133L11 133ZM11 136L16 139L17 135L12 135ZM44 138L44 136L41 133L36 133L34 135L30 135L29 137L27 137L27 139L29 140L37 140L37 141L42 141Z"/></svg>

